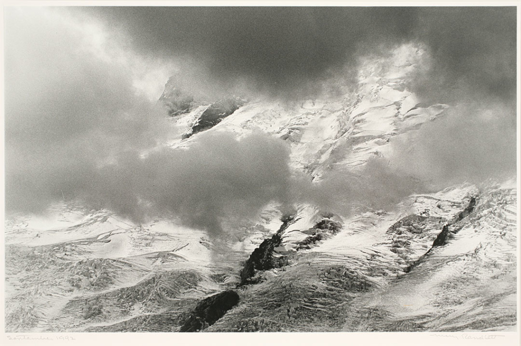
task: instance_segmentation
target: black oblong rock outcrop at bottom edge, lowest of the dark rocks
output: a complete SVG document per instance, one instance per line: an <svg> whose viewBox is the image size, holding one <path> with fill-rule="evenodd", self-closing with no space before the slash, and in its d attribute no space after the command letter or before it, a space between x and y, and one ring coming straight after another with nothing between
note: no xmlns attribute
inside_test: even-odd
<svg viewBox="0 0 521 346"><path fill-rule="evenodd" d="M199 331L213 325L219 318L239 303L239 294L233 290L220 292L201 300L179 331Z"/></svg>

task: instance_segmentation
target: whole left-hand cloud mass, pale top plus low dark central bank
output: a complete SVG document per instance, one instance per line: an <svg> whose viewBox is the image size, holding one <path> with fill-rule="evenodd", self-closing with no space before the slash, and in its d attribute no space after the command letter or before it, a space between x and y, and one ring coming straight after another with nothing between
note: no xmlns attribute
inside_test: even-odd
<svg viewBox="0 0 521 346"><path fill-rule="evenodd" d="M65 200L217 235L227 215L289 202L281 140L202 134L189 148L153 149L171 126L136 93L131 69L82 49L82 32L56 12L6 17L7 212L44 213Z"/></svg>

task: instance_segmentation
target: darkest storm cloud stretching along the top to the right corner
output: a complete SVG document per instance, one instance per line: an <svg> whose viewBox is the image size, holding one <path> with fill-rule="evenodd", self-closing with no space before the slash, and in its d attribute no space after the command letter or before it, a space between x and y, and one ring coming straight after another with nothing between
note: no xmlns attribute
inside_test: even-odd
<svg viewBox="0 0 521 346"><path fill-rule="evenodd" d="M184 57L205 66L209 73L200 82L227 91L245 83L272 96L308 96L320 92L329 76L356 65L359 56L417 41L433 57L432 68L415 84L426 99L452 99L455 88L460 94L515 98L515 7L81 10L125 32L143 54Z"/></svg>

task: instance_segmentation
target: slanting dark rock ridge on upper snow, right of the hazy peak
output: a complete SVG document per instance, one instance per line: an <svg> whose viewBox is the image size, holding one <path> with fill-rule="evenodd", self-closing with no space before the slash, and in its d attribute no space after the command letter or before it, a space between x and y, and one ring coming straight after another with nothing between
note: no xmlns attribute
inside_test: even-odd
<svg viewBox="0 0 521 346"><path fill-rule="evenodd" d="M192 126L192 130L184 134L183 138L188 138L198 132L211 129L244 104L245 101L243 99L234 96L228 96L215 102L201 114L199 120Z"/></svg>

